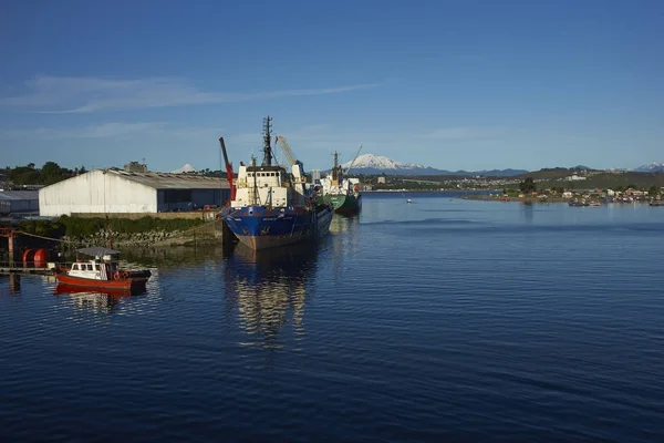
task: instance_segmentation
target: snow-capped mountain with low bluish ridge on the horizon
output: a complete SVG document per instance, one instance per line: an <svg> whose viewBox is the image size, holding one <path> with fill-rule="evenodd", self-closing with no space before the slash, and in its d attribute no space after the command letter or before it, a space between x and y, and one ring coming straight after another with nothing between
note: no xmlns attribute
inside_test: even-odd
<svg viewBox="0 0 664 443"><path fill-rule="evenodd" d="M341 165L347 169L352 162ZM525 174L526 169L491 169L491 171L447 171L436 169L430 166L418 165L415 163L402 163L387 158L383 155L362 154L352 164L351 174L366 175L492 175L492 176L512 176Z"/></svg>

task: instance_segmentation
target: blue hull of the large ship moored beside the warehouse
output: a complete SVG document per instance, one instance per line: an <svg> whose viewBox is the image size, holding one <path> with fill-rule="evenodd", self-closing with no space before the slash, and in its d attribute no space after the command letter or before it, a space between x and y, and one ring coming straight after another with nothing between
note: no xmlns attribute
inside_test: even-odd
<svg viewBox="0 0 664 443"><path fill-rule="evenodd" d="M330 231L332 214L331 205L315 210L253 206L230 209L225 220L240 243L259 250L320 238Z"/></svg>

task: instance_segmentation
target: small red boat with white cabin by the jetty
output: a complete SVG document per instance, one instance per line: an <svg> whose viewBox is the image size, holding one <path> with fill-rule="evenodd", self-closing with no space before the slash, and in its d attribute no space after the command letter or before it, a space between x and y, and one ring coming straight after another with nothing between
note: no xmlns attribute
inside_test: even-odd
<svg viewBox="0 0 664 443"><path fill-rule="evenodd" d="M121 269L117 250L92 247L79 249L77 253L93 256L90 260L76 260L71 268L54 268L53 274L59 282L80 288L96 288L135 291L145 288L152 276L149 270Z"/></svg>

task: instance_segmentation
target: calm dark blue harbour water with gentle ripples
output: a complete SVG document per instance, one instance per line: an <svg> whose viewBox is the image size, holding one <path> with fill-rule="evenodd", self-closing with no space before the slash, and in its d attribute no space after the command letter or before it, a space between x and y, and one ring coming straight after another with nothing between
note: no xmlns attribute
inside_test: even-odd
<svg viewBox="0 0 664 443"><path fill-rule="evenodd" d="M408 197L134 297L0 277L0 436L664 441L664 208Z"/></svg>

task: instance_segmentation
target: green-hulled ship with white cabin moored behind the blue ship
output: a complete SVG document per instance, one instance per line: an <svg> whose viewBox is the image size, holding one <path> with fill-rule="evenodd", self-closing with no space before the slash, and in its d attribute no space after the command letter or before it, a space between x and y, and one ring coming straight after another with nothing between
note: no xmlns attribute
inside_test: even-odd
<svg viewBox="0 0 664 443"><path fill-rule="evenodd" d="M362 148L362 146L360 146L360 148ZM359 153L360 151L357 151L357 154ZM357 158L356 155L355 158ZM349 169L345 172L342 169L339 164L339 154L334 152L334 167L332 167L328 177L321 178L323 193L322 196L319 197L319 200L321 203L332 203L335 213L353 214L362 208L360 179L344 177L344 174L346 174Z"/></svg>

